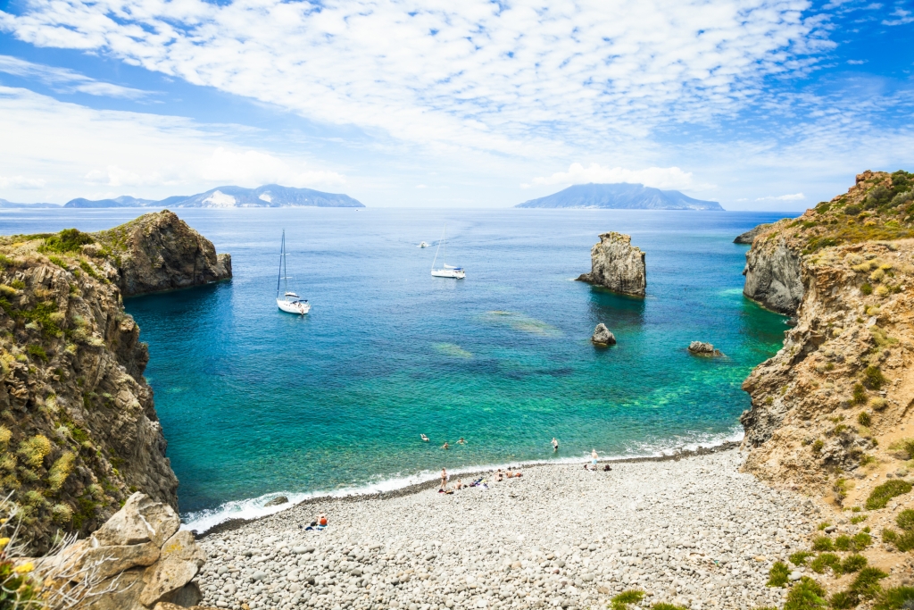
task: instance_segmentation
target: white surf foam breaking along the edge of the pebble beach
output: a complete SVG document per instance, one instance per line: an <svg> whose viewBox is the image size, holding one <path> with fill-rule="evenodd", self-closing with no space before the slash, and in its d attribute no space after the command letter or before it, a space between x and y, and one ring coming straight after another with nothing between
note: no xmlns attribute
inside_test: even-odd
<svg viewBox="0 0 914 610"><path fill-rule="evenodd" d="M727 433L685 433L676 435L674 438L667 438L664 441L633 443L624 451L615 455L601 455L603 461L623 460L643 457L663 457L664 455L675 455L683 451L695 451L699 447L716 447L722 444L739 442L743 438L742 426L737 426ZM541 460L512 460L500 464L462 466L459 468L449 469L451 479L455 476L467 475L470 473L487 472L495 468L505 468L506 466L536 466L540 464L581 464L590 460L590 452L585 451L580 455L569 455L550 459ZM344 498L347 496L370 496L379 493L397 491L404 487L420 485L429 481L438 480L439 472L437 470L423 470L408 476L393 476L390 478L379 479L375 482L365 485L342 487L334 490L315 490L313 492L289 492L277 491L264 494L259 498L248 498L242 500L230 500L220 505L218 508L207 508L196 512L188 512L182 515L182 530L196 530L197 533L204 533L216 527L219 523L224 523L230 519L260 519L272 515L282 510L292 508L304 500L312 498ZM289 498L287 504L266 506L272 499L285 496Z"/></svg>

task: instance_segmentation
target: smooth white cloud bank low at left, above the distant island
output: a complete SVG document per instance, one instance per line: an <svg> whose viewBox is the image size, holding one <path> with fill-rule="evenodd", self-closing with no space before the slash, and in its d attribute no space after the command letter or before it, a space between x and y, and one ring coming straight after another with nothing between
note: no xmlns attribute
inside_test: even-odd
<svg viewBox="0 0 914 610"><path fill-rule="evenodd" d="M43 200L63 202L100 186L163 198L225 184L320 187L345 180L308 168L300 157L240 147L229 136L237 131L182 117L92 110L0 87L0 167L11 176L0 178L0 187L12 191L7 199L43 187Z"/></svg>

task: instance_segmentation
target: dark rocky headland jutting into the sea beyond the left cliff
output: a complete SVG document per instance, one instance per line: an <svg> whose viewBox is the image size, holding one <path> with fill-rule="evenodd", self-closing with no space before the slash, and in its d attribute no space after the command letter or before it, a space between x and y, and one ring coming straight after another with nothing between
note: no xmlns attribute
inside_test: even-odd
<svg viewBox="0 0 914 610"><path fill-rule="evenodd" d="M231 277L231 255L217 254L207 240L167 209L144 214L111 230L92 235L118 271L115 282L124 296L209 284Z"/></svg>

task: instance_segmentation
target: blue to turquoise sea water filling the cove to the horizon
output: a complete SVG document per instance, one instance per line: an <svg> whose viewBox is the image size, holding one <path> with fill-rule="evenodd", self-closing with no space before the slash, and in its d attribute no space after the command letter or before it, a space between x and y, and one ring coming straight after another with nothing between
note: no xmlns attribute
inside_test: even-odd
<svg viewBox="0 0 914 610"><path fill-rule="evenodd" d="M388 488L449 469L643 455L739 437L749 370L784 318L741 294L733 237L776 214L622 210L178 210L232 254L232 281L129 299L146 377L181 481L205 526L301 497ZM136 210L5 213L3 232L110 227ZM448 262L432 278L448 223ZM273 301L286 230L292 284ZM597 234L647 252L648 295L570 281ZM420 241L432 247L421 250ZM590 345L603 322L619 343ZM697 359L692 340L727 355ZM422 443L420 433L431 442ZM459 437L466 445L457 445ZM558 437L561 448L549 444ZM444 451L445 441L452 445Z"/></svg>

